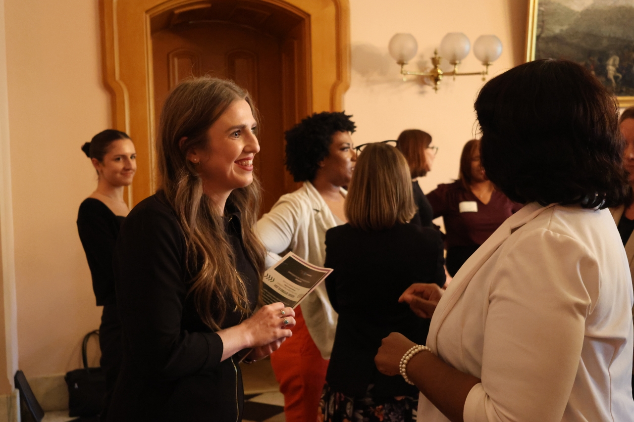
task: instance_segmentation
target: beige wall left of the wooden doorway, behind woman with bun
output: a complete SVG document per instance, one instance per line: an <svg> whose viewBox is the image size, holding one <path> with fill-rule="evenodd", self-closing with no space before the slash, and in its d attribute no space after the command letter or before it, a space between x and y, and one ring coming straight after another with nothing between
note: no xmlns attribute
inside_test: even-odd
<svg viewBox="0 0 634 422"><path fill-rule="evenodd" d="M110 122L96 0L6 0L19 365L80 364L98 328L75 220L96 176L80 146Z"/></svg>

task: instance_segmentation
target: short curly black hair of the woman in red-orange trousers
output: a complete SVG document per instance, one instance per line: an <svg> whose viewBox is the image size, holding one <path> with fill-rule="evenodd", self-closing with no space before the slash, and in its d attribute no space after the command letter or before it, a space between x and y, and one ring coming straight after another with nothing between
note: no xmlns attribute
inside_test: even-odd
<svg viewBox="0 0 634 422"><path fill-rule="evenodd" d="M286 132L286 168L295 182L313 181L319 163L328 157L336 132L354 132L352 116L342 112L314 113Z"/></svg>

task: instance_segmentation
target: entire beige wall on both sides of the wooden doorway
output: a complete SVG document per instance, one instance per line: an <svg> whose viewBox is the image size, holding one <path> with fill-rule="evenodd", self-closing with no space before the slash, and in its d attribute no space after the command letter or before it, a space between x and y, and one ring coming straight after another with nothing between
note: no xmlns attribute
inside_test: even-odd
<svg viewBox="0 0 634 422"><path fill-rule="evenodd" d="M504 53L492 68L521 61L526 0L351 0L353 79L346 111L356 143L393 139L418 127L440 147L429 191L456 176L462 144L474 134L477 77L443 81L434 94L403 83L387 56L394 32L411 32L429 58L446 32L475 41L497 34ZM77 236L77 207L96 178L79 146L110 123L100 75L96 0L6 0L11 176L19 365L27 376L80 364L82 335L97 328L90 274ZM478 69L471 55L463 70Z"/></svg>

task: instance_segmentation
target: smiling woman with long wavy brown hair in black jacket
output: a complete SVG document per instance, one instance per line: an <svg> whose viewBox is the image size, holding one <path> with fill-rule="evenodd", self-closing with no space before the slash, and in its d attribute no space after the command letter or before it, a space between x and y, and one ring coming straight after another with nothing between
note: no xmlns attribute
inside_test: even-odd
<svg viewBox="0 0 634 422"><path fill-rule="evenodd" d="M108 421L242 419L238 361L292 335L293 310L261 307L254 233L256 110L232 82L181 82L161 114L160 190L128 215L115 249L123 363Z"/></svg>

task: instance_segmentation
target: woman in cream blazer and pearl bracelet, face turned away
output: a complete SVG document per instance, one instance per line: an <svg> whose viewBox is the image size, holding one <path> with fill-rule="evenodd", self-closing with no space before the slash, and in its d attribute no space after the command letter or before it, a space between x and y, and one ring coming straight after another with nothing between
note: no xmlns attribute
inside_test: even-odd
<svg viewBox="0 0 634 422"><path fill-rule="evenodd" d="M634 417L634 297L605 209L628 195L617 110L571 61L532 61L482 88L475 101L482 165L527 205L444 294L417 285L401 297L421 316L433 314L430 350L392 333L375 361L418 387L419 420Z"/></svg>

